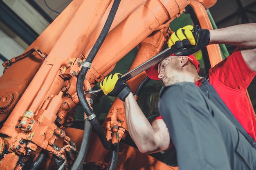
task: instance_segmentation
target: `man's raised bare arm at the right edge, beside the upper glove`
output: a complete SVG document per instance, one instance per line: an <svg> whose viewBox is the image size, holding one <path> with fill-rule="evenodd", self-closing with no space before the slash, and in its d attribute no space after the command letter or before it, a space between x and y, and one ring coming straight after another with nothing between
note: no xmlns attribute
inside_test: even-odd
<svg viewBox="0 0 256 170"><path fill-rule="evenodd" d="M256 24L240 24L209 31L209 44L239 46L245 62L256 72Z"/></svg>

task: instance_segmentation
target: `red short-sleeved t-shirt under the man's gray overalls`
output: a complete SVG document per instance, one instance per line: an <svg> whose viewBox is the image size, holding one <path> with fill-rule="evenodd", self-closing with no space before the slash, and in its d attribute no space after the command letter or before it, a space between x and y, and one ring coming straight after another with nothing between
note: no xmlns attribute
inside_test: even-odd
<svg viewBox="0 0 256 170"><path fill-rule="evenodd" d="M220 98L238 119L251 137L256 141L256 118L252 105L246 95L246 89L256 75L245 63L240 50L209 70L210 84ZM202 84L202 79L195 82ZM156 119L162 119L161 116Z"/></svg>

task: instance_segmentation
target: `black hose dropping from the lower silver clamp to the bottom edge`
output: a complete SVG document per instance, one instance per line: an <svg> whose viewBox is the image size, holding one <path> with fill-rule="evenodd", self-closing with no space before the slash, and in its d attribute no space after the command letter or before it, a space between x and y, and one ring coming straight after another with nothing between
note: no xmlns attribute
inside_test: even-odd
<svg viewBox="0 0 256 170"><path fill-rule="evenodd" d="M92 131L92 124L87 118L84 121L85 122L84 122L84 128L83 128L83 139L79 149L79 154L77 155L76 160L74 161L74 164L70 170L79 170L88 150L91 131Z"/></svg>

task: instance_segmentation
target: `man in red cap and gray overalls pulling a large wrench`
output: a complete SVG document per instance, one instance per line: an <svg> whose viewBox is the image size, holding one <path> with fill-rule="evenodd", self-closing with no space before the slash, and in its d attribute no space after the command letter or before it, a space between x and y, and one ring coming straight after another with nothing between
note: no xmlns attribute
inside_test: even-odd
<svg viewBox="0 0 256 170"><path fill-rule="evenodd" d="M101 82L105 95L124 101L128 131L141 152L158 152L173 144L180 170L256 169L256 119L245 93L256 75L255 28L256 24L217 30L185 26L173 33L168 45L175 55L146 71L165 85L159 94L161 117L152 124L120 74ZM214 43L239 47L201 79L192 54Z"/></svg>

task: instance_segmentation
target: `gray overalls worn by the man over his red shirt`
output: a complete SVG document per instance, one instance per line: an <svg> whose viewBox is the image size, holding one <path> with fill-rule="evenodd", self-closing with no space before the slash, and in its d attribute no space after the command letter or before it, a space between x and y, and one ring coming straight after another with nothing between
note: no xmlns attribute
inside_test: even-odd
<svg viewBox="0 0 256 170"><path fill-rule="evenodd" d="M177 150L179 169L256 170L254 140L229 120L229 109L209 79L204 80L201 90L183 82L160 91L159 112Z"/></svg>

